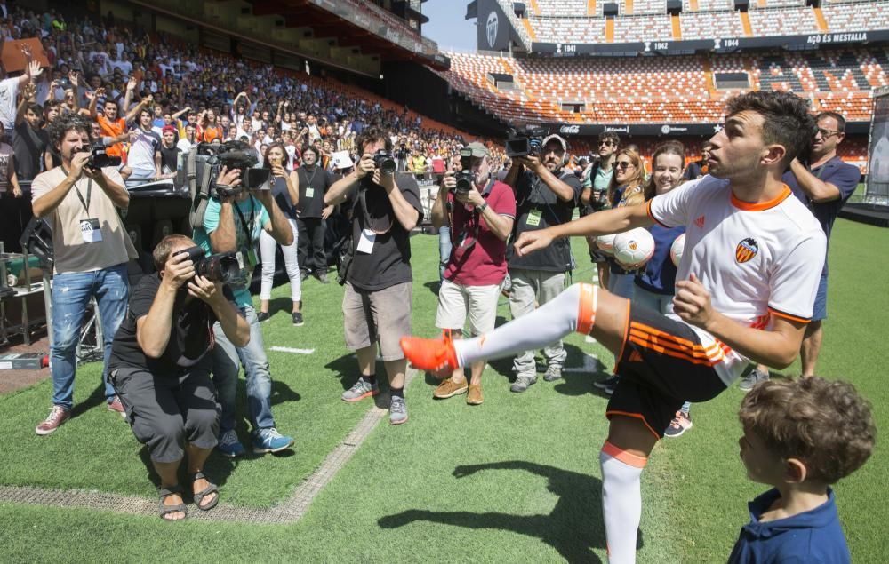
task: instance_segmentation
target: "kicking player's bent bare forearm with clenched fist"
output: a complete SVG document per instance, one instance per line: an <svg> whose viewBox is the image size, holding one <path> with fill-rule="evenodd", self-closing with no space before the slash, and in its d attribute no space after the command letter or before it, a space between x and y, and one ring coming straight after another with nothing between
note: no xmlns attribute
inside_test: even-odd
<svg viewBox="0 0 889 564"><path fill-rule="evenodd" d="M785 369L797 359L803 343L805 322L773 316L772 330L744 327L715 311L710 294L694 274L676 282L674 312L685 322L707 330L726 345L751 361L776 369Z"/></svg>

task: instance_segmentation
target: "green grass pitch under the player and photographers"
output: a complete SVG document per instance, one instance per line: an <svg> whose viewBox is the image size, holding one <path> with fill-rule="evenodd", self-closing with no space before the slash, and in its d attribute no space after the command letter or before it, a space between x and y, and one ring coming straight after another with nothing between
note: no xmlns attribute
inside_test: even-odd
<svg viewBox="0 0 889 564"><path fill-rule="evenodd" d="M582 269L574 281L589 280L585 244L573 243ZM414 333L433 335L436 237L414 237L412 249ZM889 230L837 221L819 365L825 377L851 380L869 398L881 428L889 424L880 373L887 249ZM267 348L313 350L268 353L276 424L297 438L295 449L236 461L213 455L208 473L228 503L268 507L290 496L370 408L339 399L357 377L355 358L342 345L342 290L309 279L303 293L304 327L290 324L286 287L275 290L272 311L279 313L263 325ZM504 304L500 314L509 318ZM613 358L578 335L566 347L564 380L540 378L522 394L509 393L510 362L494 361L485 372L485 403L477 407L463 396L433 401L434 383L418 375L407 392L410 422L393 427L384 420L292 525L164 523L0 500L0 560L605 561L598 451L606 399L591 385L601 375L585 370L610 368ZM48 437L33 431L49 408L48 381L0 398L0 483L154 496L148 458L104 409L99 378L98 364L78 371L77 417ZM727 558L749 519L747 501L765 489L747 480L738 458L741 397L733 388L693 406L693 429L655 447L643 475L638 561ZM244 420L238 430L246 440ZM874 457L836 486L853 561L885 558L886 463L879 443Z"/></svg>

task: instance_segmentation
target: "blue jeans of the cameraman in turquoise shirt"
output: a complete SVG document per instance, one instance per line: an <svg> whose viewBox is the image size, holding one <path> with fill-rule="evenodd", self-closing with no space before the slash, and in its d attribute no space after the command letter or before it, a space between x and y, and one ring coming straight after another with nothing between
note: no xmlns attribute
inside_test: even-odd
<svg viewBox="0 0 889 564"><path fill-rule="evenodd" d="M216 346L213 347L213 385L219 393L222 406L220 434L235 428L237 373L244 364L247 379L247 403L250 406L250 423L253 433L275 426L272 417L272 376L268 370L268 358L262 345L262 330L253 306L241 308L250 323L250 342L237 347L222 332L220 322L213 325Z"/></svg>

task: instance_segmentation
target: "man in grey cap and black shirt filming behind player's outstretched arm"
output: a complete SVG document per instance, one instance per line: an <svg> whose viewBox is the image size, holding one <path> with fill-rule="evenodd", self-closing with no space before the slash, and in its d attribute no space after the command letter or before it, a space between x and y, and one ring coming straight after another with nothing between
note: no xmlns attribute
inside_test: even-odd
<svg viewBox="0 0 889 564"><path fill-rule="evenodd" d="M516 195L516 223L512 240L528 231L557 226L571 221L574 208L581 201L581 183L568 163L568 144L558 135L541 141L540 155L517 156L507 173L506 184ZM567 239L555 242L542 252L518 256L509 244L507 264L512 287L509 309L513 318L532 312L565 289L565 273L573 270L571 247ZM557 341L543 349L547 371L543 379L552 382L562 377L565 347ZM521 393L537 381L534 351L525 351L513 361L517 372L513 392Z"/></svg>

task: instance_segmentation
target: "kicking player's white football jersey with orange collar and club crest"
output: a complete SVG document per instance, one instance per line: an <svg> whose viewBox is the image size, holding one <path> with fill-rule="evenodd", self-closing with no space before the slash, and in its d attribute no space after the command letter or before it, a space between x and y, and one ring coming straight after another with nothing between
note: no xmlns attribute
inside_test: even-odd
<svg viewBox="0 0 889 564"><path fill-rule="evenodd" d="M655 196L648 214L663 226L685 226L676 279L695 274L717 312L763 330L774 315L812 318L827 238L789 187L770 202L752 204L735 198L728 180L705 176ZM718 361L714 368L726 385L741 376L749 359L707 331L693 330L710 360Z"/></svg>

